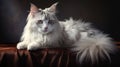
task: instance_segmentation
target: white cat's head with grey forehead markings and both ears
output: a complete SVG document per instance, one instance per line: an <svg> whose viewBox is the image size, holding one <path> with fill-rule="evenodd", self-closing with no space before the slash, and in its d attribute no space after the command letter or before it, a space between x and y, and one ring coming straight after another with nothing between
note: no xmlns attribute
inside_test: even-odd
<svg viewBox="0 0 120 67"><path fill-rule="evenodd" d="M34 4L31 4L30 13L28 15L28 24L34 31L41 34L48 34L59 27L58 20L55 16L57 3L49 8L40 9Z"/></svg>

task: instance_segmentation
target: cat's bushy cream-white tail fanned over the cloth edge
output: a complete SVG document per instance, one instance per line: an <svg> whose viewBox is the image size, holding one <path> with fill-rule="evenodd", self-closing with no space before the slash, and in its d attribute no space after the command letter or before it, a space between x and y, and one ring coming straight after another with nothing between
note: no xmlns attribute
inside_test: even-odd
<svg viewBox="0 0 120 67"><path fill-rule="evenodd" d="M73 51L77 51L77 60L80 63L85 60L92 63L99 59L111 60L109 54L115 50L111 38L101 33L93 37L83 37L74 45Z"/></svg>

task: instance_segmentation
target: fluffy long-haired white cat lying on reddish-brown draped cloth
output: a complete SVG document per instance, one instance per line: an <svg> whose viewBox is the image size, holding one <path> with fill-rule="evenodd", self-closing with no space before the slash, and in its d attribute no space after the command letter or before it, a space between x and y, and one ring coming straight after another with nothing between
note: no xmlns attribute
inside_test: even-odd
<svg viewBox="0 0 120 67"><path fill-rule="evenodd" d="M59 21L55 15L57 4L45 9L31 4L27 24L17 49L65 47L77 53L76 60L80 63L85 59L95 62L99 57L110 59L109 54L116 49L112 38L81 20L70 18Z"/></svg>

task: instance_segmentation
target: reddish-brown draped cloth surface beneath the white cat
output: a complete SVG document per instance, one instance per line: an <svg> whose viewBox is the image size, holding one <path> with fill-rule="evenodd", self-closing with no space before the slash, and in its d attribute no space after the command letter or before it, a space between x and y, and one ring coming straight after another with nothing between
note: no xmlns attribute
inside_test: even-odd
<svg viewBox="0 0 120 67"><path fill-rule="evenodd" d="M118 48L120 42L116 42ZM0 67L120 67L120 51L111 55L111 62L91 65L76 63L75 54L65 49L17 50L16 44L0 44Z"/></svg>

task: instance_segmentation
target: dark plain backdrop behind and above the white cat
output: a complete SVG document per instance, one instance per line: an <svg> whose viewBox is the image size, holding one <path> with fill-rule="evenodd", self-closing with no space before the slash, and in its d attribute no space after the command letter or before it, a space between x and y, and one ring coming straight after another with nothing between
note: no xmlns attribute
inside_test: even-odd
<svg viewBox="0 0 120 67"><path fill-rule="evenodd" d="M0 0L0 43L17 43L26 24L30 3L46 8L59 2L59 20L82 19L120 41L119 2L116 0Z"/></svg>

